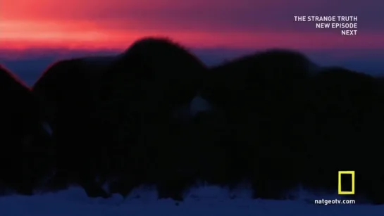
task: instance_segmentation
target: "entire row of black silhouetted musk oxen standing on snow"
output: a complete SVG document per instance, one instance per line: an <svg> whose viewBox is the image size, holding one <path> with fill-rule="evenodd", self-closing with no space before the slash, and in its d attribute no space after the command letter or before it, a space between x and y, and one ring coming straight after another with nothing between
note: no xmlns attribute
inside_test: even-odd
<svg viewBox="0 0 384 216"><path fill-rule="evenodd" d="M108 197L152 184L182 200L196 182L246 181L255 198L285 199L297 186L336 193L337 171L354 170L350 198L384 203L383 80L302 53L207 68L180 44L144 38L55 63L32 91L2 68L0 82L4 192L80 184Z"/></svg>

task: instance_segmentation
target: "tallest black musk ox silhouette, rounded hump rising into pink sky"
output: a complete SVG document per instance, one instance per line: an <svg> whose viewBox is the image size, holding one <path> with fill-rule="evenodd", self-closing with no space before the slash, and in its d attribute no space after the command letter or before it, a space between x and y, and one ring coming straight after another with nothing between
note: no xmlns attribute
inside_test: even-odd
<svg viewBox="0 0 384 216"><path fill-rule="evenodd" d="M124 161L111 167L119 174L129 169L122 183L132 184L125 191L147 182L158 184L160 197L180 196L176 179L183 178L184 127L175 113L197 96L205 72L204 64L179 44L149 37L132 44L104 74L101 131L113 143L111 154ZM178 194L168 194L169 187Z"/></svg>

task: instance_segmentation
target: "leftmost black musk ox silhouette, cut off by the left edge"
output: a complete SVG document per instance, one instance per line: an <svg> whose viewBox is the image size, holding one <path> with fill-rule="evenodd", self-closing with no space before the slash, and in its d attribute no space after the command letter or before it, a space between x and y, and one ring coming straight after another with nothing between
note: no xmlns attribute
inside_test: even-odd
<svg viewBox="0 0 384 216"><path fill-rule="evenodd" d="M51 143L30 89L0 65L0 193L32 194L51 172Z"/></svg>

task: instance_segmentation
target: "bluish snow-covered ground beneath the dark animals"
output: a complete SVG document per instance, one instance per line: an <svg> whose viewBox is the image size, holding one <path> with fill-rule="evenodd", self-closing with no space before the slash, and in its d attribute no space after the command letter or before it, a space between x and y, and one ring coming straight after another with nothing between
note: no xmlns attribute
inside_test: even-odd
<svg viewBox="0 0 384 216"><path fill-rule="evenodd" d="M241 192L241 191L240 191ZM237 192L236 198L225 189L214 186L194 189L185 201L157 200L152 190L138 189L123 199L88 198L82 189L73 187L57 193L35 196L0 197L1 216L383 216L384 205L316 205L314 198L297 201L252 200L249 194ZM232 198L231 198L232 197ZM321 197L318 197L321 198ZM323 197L327 198L327 197ZM340 197L339 197L340 198Z"/></svg>

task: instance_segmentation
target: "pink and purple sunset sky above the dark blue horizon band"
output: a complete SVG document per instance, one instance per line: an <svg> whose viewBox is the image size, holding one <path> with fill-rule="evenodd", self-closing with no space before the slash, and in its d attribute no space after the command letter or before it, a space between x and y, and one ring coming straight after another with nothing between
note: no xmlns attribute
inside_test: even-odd
<svg viewBox="0 0 384 216"><path fill-rule="evenodd" d="M337 49L348 56L384 51L383 8L382 0L1 0L0 51L17 58L30 49L123 50L151 35L196 49ZM295 23L294 15L357 15L358 35Z"/></svg>

